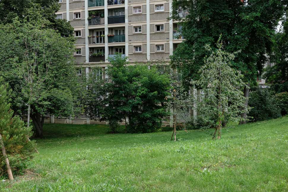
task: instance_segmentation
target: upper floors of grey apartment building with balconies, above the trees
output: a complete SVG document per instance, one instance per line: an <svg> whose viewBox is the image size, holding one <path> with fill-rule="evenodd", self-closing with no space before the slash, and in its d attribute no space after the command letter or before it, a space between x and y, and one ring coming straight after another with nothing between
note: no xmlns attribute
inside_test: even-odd
<svg viewBox="0 0 288 192"><path fill-rule="evenodd" d="M58 19L74 27L79 65L105 68L115 53L129 63L169 62L183 37L181 25L167 20L172 0L59 0ZM179 7L179 16L188 12Z"/></svg>

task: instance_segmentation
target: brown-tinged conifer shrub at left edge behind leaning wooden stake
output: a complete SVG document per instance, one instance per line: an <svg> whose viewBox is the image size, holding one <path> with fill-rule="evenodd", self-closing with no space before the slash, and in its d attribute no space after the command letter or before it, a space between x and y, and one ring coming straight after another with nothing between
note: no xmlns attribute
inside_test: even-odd
<svg viewBox="0 0 288 192"><path fill-rule="evenodd" d="M9 163L14 174L23 172L27 162L35 152L35 142L28 140L31 137L31 127L24 125L18 116L14 116L10 110L10 94L7 91L8 83L3 84L0 79L0 134L4 142ZM1 153L0 175L7 176L6 164Z"/></svg>

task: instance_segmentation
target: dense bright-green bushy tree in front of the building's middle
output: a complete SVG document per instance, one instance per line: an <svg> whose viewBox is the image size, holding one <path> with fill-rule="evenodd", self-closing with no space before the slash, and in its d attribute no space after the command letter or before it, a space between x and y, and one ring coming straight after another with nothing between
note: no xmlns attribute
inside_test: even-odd
<svg viewBox="0 0 288 192"><path fill-rule="evenodd" d="M108 105L102 120L129 121L128 132L154 132L161 128L167 115L164 102L168 95L169 78L156 68L145 65L127 66L126 58L118 54L108 66Z"/></svg>

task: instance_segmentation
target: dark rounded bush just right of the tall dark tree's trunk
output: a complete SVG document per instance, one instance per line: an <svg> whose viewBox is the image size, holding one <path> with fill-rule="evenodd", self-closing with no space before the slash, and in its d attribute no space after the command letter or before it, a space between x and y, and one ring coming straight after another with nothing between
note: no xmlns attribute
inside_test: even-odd
<svg viewBox="0 0 288 192"><path fill-rule="evenodd" d="M251 121L281 117L281 109L278 106L275 93L270 89L259 88L256 91L251 91L248 104L251 107L248 114Z"/></svg>

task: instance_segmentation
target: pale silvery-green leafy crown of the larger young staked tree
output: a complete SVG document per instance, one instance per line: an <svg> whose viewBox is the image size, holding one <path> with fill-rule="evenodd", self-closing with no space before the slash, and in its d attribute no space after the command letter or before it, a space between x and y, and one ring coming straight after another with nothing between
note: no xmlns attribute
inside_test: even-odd
<svg viewBox="0 0 288 192"><path fill-rule="evenodd" d="M192 85L202 91L195 94L194 99L199 117L209 127L220 128L222 123L241 120L240 114L247 109L245 97L239 89L245 85L243 75L231 67L237 53L222 50L220 38L217 47L218 50L213 51L206 45L208 52L212 53L205 57L205 64L199 70L199 80L192 80Z"/></svg>

